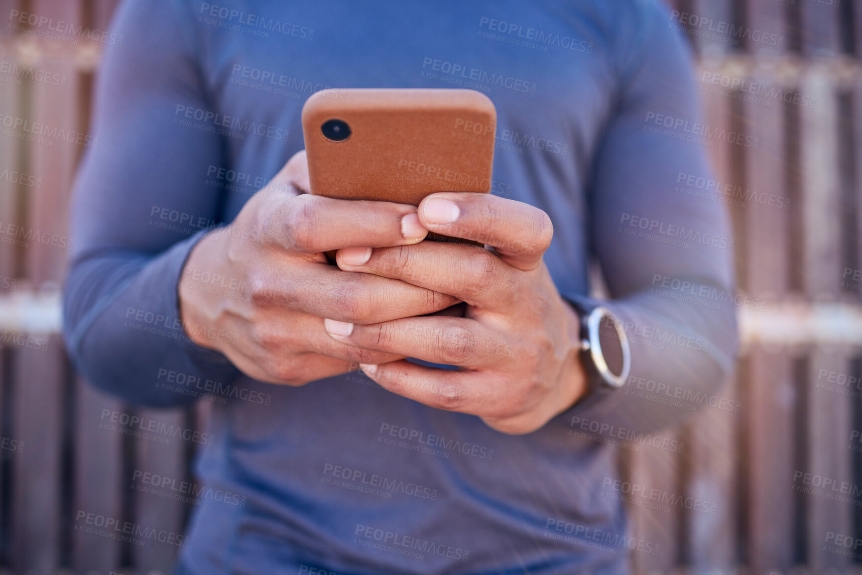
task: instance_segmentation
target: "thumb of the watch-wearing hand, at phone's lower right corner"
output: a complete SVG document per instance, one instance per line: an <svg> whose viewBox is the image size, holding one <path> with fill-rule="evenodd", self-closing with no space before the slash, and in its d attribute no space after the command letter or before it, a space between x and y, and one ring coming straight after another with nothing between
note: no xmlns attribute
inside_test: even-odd
<svg viewBox="0 0 862 575"><path fill-rule="evenodd" d="M492 246L508 264L534 270L553 237L551 218L528 203L475 192L444 191L419 204L422 226Z"/></svg>

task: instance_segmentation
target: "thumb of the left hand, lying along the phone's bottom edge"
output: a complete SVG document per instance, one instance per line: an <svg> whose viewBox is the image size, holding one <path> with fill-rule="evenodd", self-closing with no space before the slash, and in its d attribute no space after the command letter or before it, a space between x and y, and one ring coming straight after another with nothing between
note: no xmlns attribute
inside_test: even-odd
<svg viewBox="0 0 862 575"><path fill-rule="evenodd" d="M415 244L428 234L415 212L404 203L273 193L263 209L260 236L296 253Z"/></svg>

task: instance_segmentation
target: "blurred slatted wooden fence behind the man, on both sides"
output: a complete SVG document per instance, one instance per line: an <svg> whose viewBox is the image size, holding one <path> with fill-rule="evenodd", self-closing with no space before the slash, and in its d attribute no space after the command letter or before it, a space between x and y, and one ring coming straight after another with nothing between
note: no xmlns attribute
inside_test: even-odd
<svg viewBox="0 0 862 575"><path fill-rule="evenodd" d="M20 10L104 29L115 3L3 0L0 20ZM739 413L705 409L669 432L682 453L621 455L633 484L715 504L715 514L633 506L633 534L661 549L634 553L636 571L862 572L836 539L862 538L862 493L840 501L824 488L862 485L862 4L671 4L669 25L699 54L707 123L759 143L717 141L711 152L731 186L740 292L764 304L739 308L743 358L721 392ZM99 45L38 32L0 28L0 124L85 134ZM193 448L94 422L109 409L201 428L207 405L131 409L79 381L57 334L68 250L7 241L9 225L66 238L79 153L0 136L0 569L168 572L176 547L84 533L78 513L181 533L189 505L129 485L135 469L190 479Z"/></svg>

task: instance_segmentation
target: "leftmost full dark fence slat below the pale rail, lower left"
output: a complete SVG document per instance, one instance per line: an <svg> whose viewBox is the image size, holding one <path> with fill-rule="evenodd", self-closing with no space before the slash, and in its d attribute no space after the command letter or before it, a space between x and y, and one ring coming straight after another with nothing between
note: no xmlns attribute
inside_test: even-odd
<svg viewBox="0 0 862 575"><path fill-rule="evenodd" d="M15 371L13 428L25 448L16 453L20 457L13 472L13 553L18 572L48 573L58 567L61 525L61 400L66 362L59 336L51 336L47 351L18 348Z"/></svg>

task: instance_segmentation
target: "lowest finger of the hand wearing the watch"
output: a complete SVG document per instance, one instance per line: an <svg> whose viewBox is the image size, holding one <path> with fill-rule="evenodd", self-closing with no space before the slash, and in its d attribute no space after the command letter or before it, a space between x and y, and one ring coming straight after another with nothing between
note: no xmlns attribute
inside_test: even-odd
<svg viewBox="0 0 862 575"><path fill-rule="evenodd" d="M381 387L435 409L472 413L480 408L481 376L478 372L454 372L417 366L409 361L362 364L362 371Z"/></svg>

